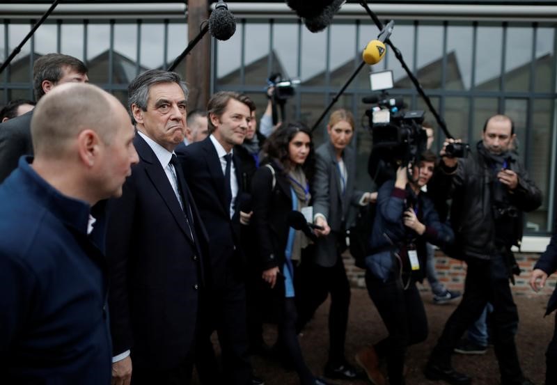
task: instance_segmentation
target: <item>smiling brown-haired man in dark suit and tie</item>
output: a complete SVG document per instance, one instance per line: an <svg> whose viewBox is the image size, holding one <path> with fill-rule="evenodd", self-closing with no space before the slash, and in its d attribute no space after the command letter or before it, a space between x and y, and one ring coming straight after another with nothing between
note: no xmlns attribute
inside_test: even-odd
<svg viewBox="0 0 557 385"><path fill-rule="evenodd" d="M227 384L238 385L251 383L245 262L240 247L240 222L247 223L249 214L240 212L240 162L233 154L233 147L244 141L251 116L245 98L226 91L214 94L207 104L212 134L178 153L210 239L208 306L203 314L200 349L205 350L205 341L217 329L224 379ZM200 372L207 371L205 363Z"/></svg>

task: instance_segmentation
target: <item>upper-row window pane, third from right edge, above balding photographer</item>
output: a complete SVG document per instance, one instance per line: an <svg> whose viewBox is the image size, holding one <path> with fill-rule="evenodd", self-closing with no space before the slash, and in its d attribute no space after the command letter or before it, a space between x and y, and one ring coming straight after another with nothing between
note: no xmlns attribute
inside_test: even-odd
<svg viewBox="0 0 557 385"><path fill-rule="evenodd" d="M499 91L503 29L501 26L478 26L477 41L474 86L482 91Z"/></svg>

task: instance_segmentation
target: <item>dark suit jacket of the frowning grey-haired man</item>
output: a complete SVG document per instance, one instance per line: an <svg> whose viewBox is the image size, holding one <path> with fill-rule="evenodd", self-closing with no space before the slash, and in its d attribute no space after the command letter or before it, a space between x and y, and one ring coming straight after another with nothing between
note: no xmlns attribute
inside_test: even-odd
<svg viewBox="0 0 557 385"><path fill-rule="evenodd" d="M131 348L134 366L164 370L182 363L194 345L207 239L189 190L194 242L155 152L139 134L134 146L139 164L123 196L108 205L113 350Z"/></svg>

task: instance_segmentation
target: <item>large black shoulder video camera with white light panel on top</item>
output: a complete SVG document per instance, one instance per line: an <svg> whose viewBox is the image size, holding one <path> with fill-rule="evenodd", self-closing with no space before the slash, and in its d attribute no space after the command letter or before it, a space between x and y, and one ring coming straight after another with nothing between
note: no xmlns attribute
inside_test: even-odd
<svg viewBox="0 0 557 385"><path fill-rule="evenodd" d="M372 91L381 91L362 100L375 104L366 111L373 141L370 157L382 160L391 171L403 164L417 164L427 146L427 134L422 129L424 111L402 111L402 99L386 93L393 88L392 71L372 72L370 84Z"/></svg>

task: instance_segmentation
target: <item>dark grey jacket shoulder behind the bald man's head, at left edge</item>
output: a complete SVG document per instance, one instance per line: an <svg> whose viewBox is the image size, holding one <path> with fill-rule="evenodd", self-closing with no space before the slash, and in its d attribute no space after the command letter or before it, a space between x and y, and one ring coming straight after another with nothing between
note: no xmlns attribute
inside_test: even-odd
<svg viewBox="0 0 557 385"><path fill-rule="evenodd" d="M0 183L17 167L22 155L33 155L31 117L33 111L0 124Z"/></svg>

